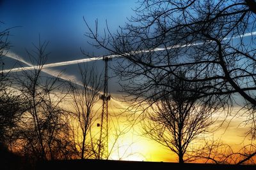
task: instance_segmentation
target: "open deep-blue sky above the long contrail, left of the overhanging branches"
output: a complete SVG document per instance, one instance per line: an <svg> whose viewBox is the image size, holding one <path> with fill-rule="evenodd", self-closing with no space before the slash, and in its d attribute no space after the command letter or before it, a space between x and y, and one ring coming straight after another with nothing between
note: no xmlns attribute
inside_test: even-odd
<svg viewBox="0 0 256 170"><path fill-rule="evenodd" d="M49 41L48 51L51 52L48 62L81 59L80 48L86 52L106 54L88 45L84 33L88 31L83 17L94 27L95 20L99 21L102 30L105 21L111 31L124 25L127 18L134 14L132 8L137 0L93 0L93 1L0 1L0 20L3 27L15 27L11 30L9 40L11 51L26 59L25 48L33 49L32 43L41 39Z"/></svg>

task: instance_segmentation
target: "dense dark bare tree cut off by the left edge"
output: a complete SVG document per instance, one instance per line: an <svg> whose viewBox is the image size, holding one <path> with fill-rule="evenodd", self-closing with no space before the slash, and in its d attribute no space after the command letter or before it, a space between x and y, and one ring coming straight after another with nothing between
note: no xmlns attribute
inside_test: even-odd
<svg viewBox="0 0 256 170"><path fill-rule="evenodd" d="M0 21L0 27L3 26L3 22ZM10 29L1 29L0 31L0 143L4 143L9 146L12 140L13 128L19 122L20 115L26 108L22 97L19 94L15 94L15 90L12 89L12 79L10 75L4 73L3 56L10 48L10 42L8 37L10 36Z"/></svg>

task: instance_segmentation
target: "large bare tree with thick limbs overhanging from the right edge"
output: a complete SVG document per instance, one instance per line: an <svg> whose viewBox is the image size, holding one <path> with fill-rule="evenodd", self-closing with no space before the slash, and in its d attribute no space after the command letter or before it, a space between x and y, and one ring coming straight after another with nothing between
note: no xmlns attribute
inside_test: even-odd
<svg viewBox="0 0 256 170"><path fill-rule="evenodd" d="M145 0L115 34L99 37L88 26L88 36L125 59L116 73L133 101L154 98L148 91L160 86L172 88L164 81L169 75L201 82L201 98L216 96L223 106L232 106L234 96L245 101L248 134L255 139L255 8L247 0ZM188 71L186 78L179 69Z"/></svg>

